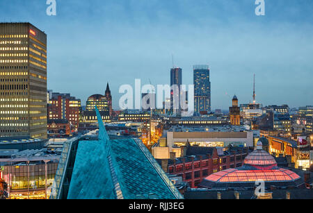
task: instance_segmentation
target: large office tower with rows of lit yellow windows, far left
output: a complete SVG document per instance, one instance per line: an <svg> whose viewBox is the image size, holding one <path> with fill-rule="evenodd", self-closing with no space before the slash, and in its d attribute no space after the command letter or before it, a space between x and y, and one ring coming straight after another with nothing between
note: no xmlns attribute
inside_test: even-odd
<svg viewBox="0 0 313 213"><path fill-rule="evenodd" d="M47 138L47 35L0 23L0 136Z"/></svg>

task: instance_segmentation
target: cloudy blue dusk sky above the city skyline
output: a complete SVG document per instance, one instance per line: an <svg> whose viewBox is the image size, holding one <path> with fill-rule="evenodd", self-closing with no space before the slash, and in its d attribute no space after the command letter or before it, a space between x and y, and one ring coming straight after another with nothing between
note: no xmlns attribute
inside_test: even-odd
<svg viewBox="0 0 313 213"><path fill-rule="evenodd" d="M120 85L170 84L172 53L193 83L193 65L211 69L212 109L234 94L263 105L313 105L313 1L265 0L0 0L0 22L30 22L47 33L48 89L86 104L109 81L113 108Z"/></svg>

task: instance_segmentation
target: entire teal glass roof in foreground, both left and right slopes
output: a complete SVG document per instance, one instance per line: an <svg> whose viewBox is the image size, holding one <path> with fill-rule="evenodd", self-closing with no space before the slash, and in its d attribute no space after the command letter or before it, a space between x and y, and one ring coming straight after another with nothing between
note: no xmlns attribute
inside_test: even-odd
<svg viewBox="0 0 313 213"><path fill-rule="evenodd" d="M113 168L123 198L134 199L139 195L147 197L148 194L154 194L160 199L175 199L134 139L115 139L110 142L111 167L101 141L79 142L67 198L116 198L116 183L112 180L110 170Z"/></svg>

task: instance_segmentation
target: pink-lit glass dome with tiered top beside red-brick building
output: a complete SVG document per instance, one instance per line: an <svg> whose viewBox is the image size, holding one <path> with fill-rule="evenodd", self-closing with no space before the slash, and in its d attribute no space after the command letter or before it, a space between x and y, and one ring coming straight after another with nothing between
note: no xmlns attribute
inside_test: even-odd
<svg viewBox="0 0 313 213"><path fill-rule="evenodd" d="M209 189L254 187L255 182L260 180L269 186L300 187L303 185L298 174L278 167L275 158L262 149L262 142L259 141L257 149L245 158L243 167L211 174L202 180L200 187Z"/></svg>

